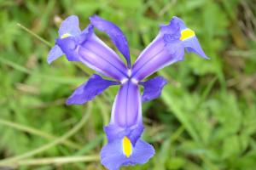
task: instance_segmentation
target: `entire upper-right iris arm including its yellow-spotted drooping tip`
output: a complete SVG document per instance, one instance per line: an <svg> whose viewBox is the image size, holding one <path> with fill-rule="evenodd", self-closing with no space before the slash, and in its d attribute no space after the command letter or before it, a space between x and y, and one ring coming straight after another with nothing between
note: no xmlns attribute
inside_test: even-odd
<svg viewBox="0 0 256 170"><path fill-rule="evenodd" d="M207 59L195 32L187 28L183 20L173 17L170 24L160 26L160 33L139 55L132 66L132 77L141 81L155 71L183 60L184 48Z"/></svg>

